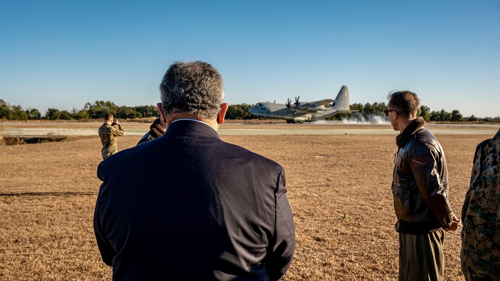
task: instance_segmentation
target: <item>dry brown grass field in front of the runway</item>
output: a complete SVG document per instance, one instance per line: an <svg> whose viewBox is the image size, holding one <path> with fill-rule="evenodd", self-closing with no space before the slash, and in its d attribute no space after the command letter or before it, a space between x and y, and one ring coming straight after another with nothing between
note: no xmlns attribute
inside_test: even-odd
<svg viewBox="0 0 500 281"><path fill-rule="evenodd" d="M475 145L490 135L437 135L457 214ZM119 149L140 136L119 138ZM285 167L297 249L284 280L396 280L392 135L226 135ZM92 227L98 137L0 146L0 280L110 280ZM463 280L460 235L447 232L445 280Z"/></svg>

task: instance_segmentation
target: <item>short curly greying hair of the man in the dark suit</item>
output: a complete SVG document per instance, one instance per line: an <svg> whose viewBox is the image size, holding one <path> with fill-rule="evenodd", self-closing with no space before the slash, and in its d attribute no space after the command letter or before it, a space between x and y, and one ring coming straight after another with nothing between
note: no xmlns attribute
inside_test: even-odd
<svg viewBox="0 0 500 281"><path fill-rule="evenodd" d="M214 119L224 101L224 81L215 67L204 61L176 61L160 83L162 110L166 116L187 113Z"/></svg>

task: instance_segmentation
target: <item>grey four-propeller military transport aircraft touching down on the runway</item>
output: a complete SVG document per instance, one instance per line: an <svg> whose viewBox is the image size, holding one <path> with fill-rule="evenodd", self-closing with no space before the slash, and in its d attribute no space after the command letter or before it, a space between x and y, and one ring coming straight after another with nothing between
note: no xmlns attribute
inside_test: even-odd
<svg viewBox="0 0 500 281"><path fill-rule="evenodd" d="M286 104L274 102L259 102L250 107L248 112L258 116L260 120L264 117L285 119L287 123L312 122L337 113L350 113L357 110L349 110L349 89L342 86L335 99L323 99L312 102L299 102L299 97L295 97L295 102L290 104L288 98ZM332 102L330 104L330 102Z"/></svg>

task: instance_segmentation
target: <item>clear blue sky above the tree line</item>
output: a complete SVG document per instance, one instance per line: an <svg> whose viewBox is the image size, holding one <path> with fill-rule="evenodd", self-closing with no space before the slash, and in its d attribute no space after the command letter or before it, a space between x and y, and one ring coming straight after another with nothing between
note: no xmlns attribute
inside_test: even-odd
<svg viewBox="0 0 500 281"><path fill-rule="evenodd" d="M71 110L159 101L170 63L221 72L230 104L414 91L500 115L500 1L0 0L0 98Z"/></svg>

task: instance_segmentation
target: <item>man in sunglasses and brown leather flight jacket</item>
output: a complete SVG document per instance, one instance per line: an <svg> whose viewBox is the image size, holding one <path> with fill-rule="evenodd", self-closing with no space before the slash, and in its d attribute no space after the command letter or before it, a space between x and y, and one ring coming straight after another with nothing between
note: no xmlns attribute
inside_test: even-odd
<svg viewBox="0 0 500 281"><path fill-rule="evenodd" d="M385 115L400 132L392 180L399 280L443 280L444 231L460 226L448 201L444 151L416 116L420 102L415 93L393 91L388 99Z"/></svg>

